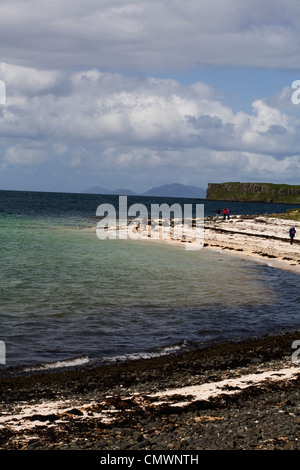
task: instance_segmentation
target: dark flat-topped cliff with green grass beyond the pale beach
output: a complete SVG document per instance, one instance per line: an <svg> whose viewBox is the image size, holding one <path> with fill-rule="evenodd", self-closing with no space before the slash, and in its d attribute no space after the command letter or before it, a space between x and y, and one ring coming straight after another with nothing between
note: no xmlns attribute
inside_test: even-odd
<svg viewBox="0 0 300 470"><path fill-rule="evenodd" d="M271 183L209 183L206 198L215 201L300 204L300 186Z"/></svg>

